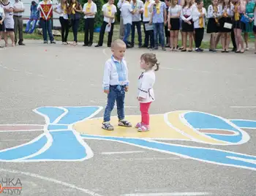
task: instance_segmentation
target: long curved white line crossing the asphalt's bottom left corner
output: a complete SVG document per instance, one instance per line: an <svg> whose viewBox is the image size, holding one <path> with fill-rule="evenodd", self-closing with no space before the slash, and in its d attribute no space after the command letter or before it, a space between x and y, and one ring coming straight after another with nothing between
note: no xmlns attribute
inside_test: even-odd
<svg viewBox="0 0 256 196"><path fill-rule="evenodd" d="M53 182L55 184L61 184L62 186L67 186L70 189L77 189L77 190L79 190L81 192L84 192L88 195L102 196L102 195L97 194L97 192L93 192L89 189L83 189L83 188L80 188L80 187L75 186L73 184L68 184L64 181L59 181L59 180L56 180L56 179L53 179L53 178L48 178L48 177L45 177L45 176L39 176L35 173L22 172L22 171L18 171L18 170L7 170L7 169L2 169L2 168L0 168L0 171L1 172L9 172L9 173L19 173L19 174L22 174L22 175L25 175L25 176L31 176L31 177L34 177L34 178L39 178L39 179L44 180L44 181Z"/></svg>

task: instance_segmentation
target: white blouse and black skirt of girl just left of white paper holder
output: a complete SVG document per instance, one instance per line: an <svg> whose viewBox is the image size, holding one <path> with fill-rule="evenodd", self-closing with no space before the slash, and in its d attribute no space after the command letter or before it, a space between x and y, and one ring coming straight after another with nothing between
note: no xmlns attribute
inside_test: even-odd
<svg viewBox="0 0 256 196"><path fill-rule="evenodd" d="M207 33L217 33L219 29L219 23L217 23L217 19L215 17L219 17L219 9L217 7L217 10L214 10L214 7L212 5L208 6L208 12L207 12L207 18L208 18L208 24L207 24Z"/></svg>

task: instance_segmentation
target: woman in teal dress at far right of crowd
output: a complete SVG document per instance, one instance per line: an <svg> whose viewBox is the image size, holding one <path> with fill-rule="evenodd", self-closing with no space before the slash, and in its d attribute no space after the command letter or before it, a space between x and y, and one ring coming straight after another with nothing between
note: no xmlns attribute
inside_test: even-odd
<svg viewBox="0 0 256 196"><path fill-rule="evenodd" d="M244 30L244 42L245 42L245 50L249 50L248 48L248 38L249 38L249 33L252 33L253 29L253 24L254 24L254 10L255 10L255 0L246 0L246 10L245 10L245 15L246 17L249 18L249 23L245 24Z"/></svg>

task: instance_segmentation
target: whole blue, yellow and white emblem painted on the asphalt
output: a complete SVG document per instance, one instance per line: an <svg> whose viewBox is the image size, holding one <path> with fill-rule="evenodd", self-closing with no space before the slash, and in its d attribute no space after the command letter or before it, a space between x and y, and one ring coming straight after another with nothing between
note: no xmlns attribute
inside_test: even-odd
<svg viewBox="0 0 256 196"><path fill-rule="evenodd" d="M102 118L93 118L100 110L99 106L42 107L34 112L45 118L44 125L1 125L0 132L42 129L42 134L28 143L2 149L0 161L84 161L94 156L86 143L90 139L110 140L200 162L256 170L255 156L220 149L246 143L250 137L244 129L256 129L256 121L229 120L210 113L178 110L152 115L150 132L117 126L110 132L101 129ZM140 116L127 116L127 119L135 124ZM115 116L111 121L117 124ZM172 143L173 140L182 141L182 145ZM186 145L187 141L194 142L193 146ZM212 147L199 147L197 143Z"/></svg>

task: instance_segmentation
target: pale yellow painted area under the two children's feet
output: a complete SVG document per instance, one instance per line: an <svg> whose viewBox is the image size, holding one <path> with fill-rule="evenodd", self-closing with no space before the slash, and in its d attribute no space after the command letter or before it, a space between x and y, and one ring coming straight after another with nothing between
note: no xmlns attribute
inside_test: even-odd
<svg viewBox="0 0 256 196"><path fill-rule="evenodd" d="M135 125L140 121L140 116L127 116L127 121L132 123L133 127L118 126L118 118L111 117L113 131L102 129L102 118L93 118L86 121L80 121L74 125L74 129L79 133L109 137L135 137L135 138L163 138L172 140L190 140L189 137L182 135L175 129L169 127L162 114L150 116L151 130L149 132L138 132Z"/></svg>

